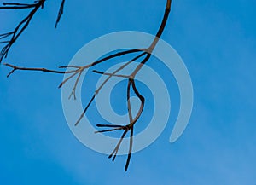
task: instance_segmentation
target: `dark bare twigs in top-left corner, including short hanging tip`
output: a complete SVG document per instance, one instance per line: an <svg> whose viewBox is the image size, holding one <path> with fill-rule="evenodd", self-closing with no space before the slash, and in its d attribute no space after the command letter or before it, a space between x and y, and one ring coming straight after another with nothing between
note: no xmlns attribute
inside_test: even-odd
<svg viewBox="0 0 256 185"><path fill-rule="evenodd" d="M0 10L2 9L30 9L29 14L20 21L20 23L15 27L15 29L11 32L6 32L0 34L0 44L5 44L3 49L0 52L0 63L3 61L3 58L6 58L9 49L15 43L15 41L20 37L22 32L24 32L31 22L34 15L38 12L38 9L44 9L44 3L46 0L38 0L34 3L3 3L3 6L0 6ZM57 20L55 22L55 28L59 21L61 20L61 15L63 14L65 0L62 0L61 7L59 9L59 13L57 16Z"/></svg>

